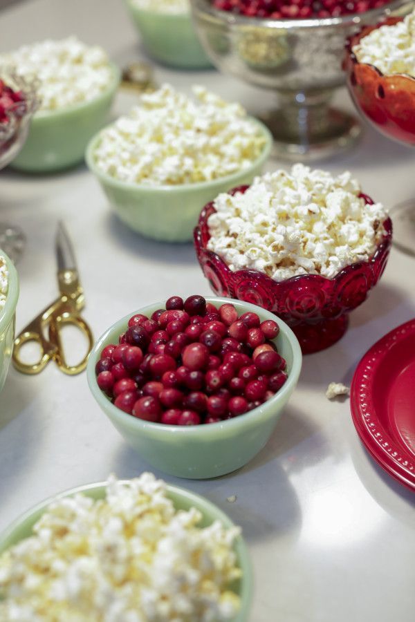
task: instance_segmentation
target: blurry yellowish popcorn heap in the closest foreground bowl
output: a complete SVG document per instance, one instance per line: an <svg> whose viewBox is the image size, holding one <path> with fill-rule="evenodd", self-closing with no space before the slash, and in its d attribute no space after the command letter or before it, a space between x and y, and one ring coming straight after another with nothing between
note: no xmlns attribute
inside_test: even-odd
<svg viewBox="0 0 415 622"><path fill-rule="evenodd" d="M239 528L176 511L151 473L111 476L107 498L58 499L0 558L2 622L224 621L240 607Z"/></svg>

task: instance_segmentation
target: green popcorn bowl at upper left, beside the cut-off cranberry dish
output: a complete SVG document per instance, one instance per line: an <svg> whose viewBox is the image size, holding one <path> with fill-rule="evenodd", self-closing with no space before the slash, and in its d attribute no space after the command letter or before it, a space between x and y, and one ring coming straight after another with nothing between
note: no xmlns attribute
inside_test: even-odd
<svg viewBox="0 0 415 622"><path fill-rule="evenodd" d="M10 166L28 173L49 173L82 162L89 140L107 123L116 95L120 70L112 63L111 68L111 84L91 102L35 113L28 138Z"/></svg>

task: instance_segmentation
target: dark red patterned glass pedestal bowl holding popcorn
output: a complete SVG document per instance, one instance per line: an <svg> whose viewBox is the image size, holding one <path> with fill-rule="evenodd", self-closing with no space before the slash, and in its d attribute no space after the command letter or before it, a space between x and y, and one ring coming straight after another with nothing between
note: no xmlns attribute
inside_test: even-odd
<svg viewBox="0 0 415 622"><path fill-rule="evenodd" d="M246 189L239 187L230 194ZM368 204L373 203L368 196L362 197ZM385 270L392 238L390 218L383 223L385 235L369 260L348 265L333 279L306 274L277 282L257 270L232 272L221 257L207 248L208 218L214 211L213 203L208 203L194 229L197 258L212 290L218 296L253 303L275 313L293 329L304 354L324 350L343 336L349 312L365 301Z"/></svg>

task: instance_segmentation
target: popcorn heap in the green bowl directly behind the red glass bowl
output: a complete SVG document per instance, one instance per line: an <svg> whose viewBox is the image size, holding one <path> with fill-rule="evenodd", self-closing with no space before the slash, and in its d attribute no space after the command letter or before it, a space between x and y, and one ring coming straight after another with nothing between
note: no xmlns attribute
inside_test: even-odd
<svg viewBox="0 0 415 622"><path fill-rule="evenodd" d="M98 169L149 186L204 182L250 167L264 134L239 104L203 86L194 99L169 84L140 96L128 116L104 129L95 149Z"/></svg>

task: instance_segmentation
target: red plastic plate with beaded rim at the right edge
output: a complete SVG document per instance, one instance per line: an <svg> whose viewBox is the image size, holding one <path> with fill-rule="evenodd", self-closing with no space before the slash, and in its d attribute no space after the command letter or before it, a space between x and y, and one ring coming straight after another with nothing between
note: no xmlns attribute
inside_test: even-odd
<svg viewBox="0 0 415 622"><path fill-rule="evenodd" d="M351 384L351 415L374 459L415 491L415 319L366 352Z"/></svg>

